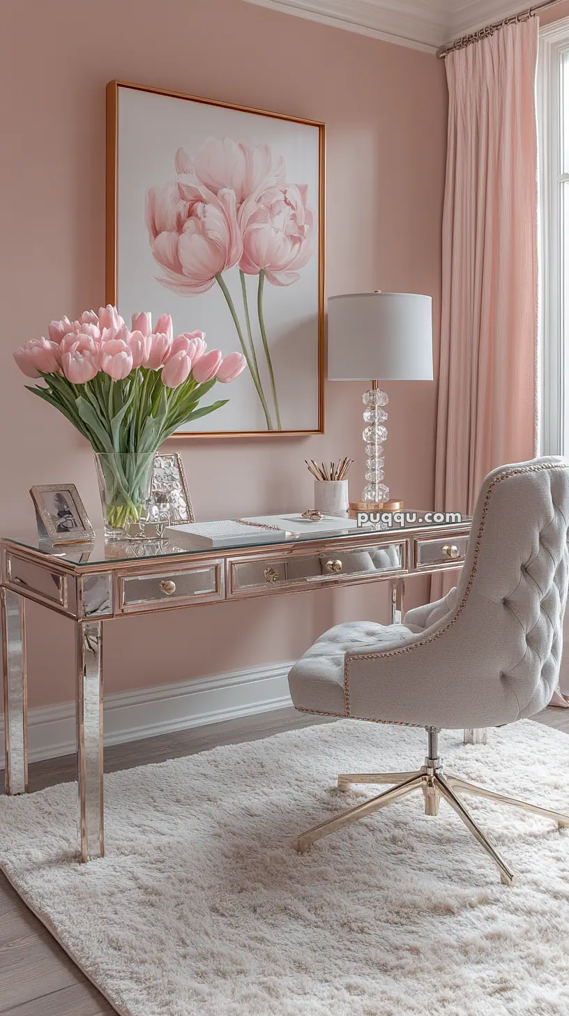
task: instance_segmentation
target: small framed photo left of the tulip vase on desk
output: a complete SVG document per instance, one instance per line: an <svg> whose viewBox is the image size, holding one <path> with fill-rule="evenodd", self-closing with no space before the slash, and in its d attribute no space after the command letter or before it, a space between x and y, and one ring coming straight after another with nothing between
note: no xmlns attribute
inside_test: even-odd
<svg viewBox="0 0 569 1016"><path fill-rule="evenodd" d="M47 536L54 547L87 544L94 538L94 529L75 484L41 484L31 487L29 493L40 536Z"/></svg>

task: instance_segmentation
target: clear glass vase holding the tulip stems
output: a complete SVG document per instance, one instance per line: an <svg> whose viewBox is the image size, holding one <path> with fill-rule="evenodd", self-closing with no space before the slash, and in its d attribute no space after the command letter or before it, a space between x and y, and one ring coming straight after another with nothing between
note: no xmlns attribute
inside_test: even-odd
<svg viewBox="0 0 569 1016"><path fill-rule="evenodd" d="M96 452L106 539L138 536L152 483L152 452Z"/></svg>

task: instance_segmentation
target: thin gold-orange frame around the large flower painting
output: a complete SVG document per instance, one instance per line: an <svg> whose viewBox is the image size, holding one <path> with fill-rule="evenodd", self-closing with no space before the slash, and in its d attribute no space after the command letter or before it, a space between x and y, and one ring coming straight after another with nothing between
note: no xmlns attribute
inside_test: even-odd
<svg viewBox="0 0 569 1016"><path fill-rule="evenodd" d="M198 96L188 96L183 92L170 91L168 89L155 88L144 84L135 84L130 81L114 80L107 85L107 213L106 213L106 300L107 303L116 305L119 299L118 284L118 191L119 191L119 96L121 89L131 89L145 92L150 96L167 97L170 99L185 100L194 104L210 106L212 108L235 111L237 113L253 114L257 117L267 117L271 120L281 120L283 122L314 127L318 131L318 200L315 202L318 213L318 236L315 243L315 253L317 253L317 367L315 369L315 381L318 386L317 402L312 403L317 418L317 426L310 429L267 429L267 430L224 430L224 431L178 431L171 435L172 439L180 438L267 438L267 437L295 437L310 434L324 433L324 243L325 243L325 125L320 121L309 120L302 117L290 116L288 114L273 113L268 110L255 109L240 106L232 103L225 103L218 100L205 99ZM279 283L283 284L283 283ZM199 292L199 291L198 291ZM165 291L166 293L166 291ZM195 299L195 298L194 298ZM138 310L139 308L135 308ZM168 307L166 307L168 309ZM121 308L119 308L121 310ZM316 307L315 307L316 311ZM248 322L249 323L249 322ZM252 345L251 339L251 345ZM238 347L238 346L237 346ZM313 347L314 348L314 347ZM245 352L245 351L244 351ZM254 353L253 353L254 357ZM268 354L267 354L268 360ZM273 384L272 368L269 365L271 384ZM258 371L257 371L258 377ZM229 394L229 393L228 393ZM274 387L273 387L274 395ZM268 400L268 399L267 399ZM276 397L274 397L276 406ZM312 411L312 410L311 410ZM276 416L278 409L276 407ZM191 425L190 425L191 426ZM268 426L268 425L267 425Z"/></svg>

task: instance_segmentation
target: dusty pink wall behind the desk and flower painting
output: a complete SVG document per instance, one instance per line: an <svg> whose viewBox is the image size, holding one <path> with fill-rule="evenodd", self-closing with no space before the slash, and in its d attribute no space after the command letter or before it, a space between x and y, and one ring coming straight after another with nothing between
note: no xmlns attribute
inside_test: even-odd
<svg viewBox="0 0 569 1016"><path fill-rule="evenodd" d="M27 490L43 483L74 482L101 523L89 448L24 390L11 354L51 318L104 302L105 85L112 78L325 121L328 294L427 293L438 320L442 62L242 0L20 0L5 6L3 22L3 531L34 525ZM327 385L324 436L178 442L198 518L310 506L304 459L311 457L355 456L358 496L361 388ZM388 479L392 494L413 507L432 505L435 389L400 383L390 392ZM72 626L45 617L29 610L31 705L73 693ZM384 588L110 624L107 690L289 659L330 624L354 617L386 619Z"/></svg>

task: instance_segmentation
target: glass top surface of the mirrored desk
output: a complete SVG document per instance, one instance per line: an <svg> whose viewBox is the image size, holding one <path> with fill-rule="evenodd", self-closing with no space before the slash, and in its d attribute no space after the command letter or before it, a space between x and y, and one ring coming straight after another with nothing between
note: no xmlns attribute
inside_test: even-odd
<svg viewBox="0 0 569 1016"><path fill-rule="evenodd" d="M347 541L359 537L370 537L382 536L389 538L389 535L395 541L397 537L403 537L407 532L413 530L425 530L429 529L430 533L435 533L440 530L441 535L449 530L456 530L459 528L467 528L470 519L463 518L461 522L458 523L443 523L434 524L426 523L423 521L423 516L425 512L407 512L407 515L415 514L417 516L417 521L409 521L404 519L403 522L397 524L387 525L386 523L377 523L375 525L367 525L357 527L356 525L351 526L345 529L338 529L337 531L330 533L324 533L322 531L314 531L310 529L311 523L307 522L306 532L294 532L286 533L284 538L281 533L278 536L271 539L266 533L263 534L263 538L259 539L257 537L252 537L250 542L243 543L242 539L232 539L228 537L227 539L216 543L215 547L183 547L181 544L176 543L176 537L169 534L167 538L164 539L130 539L130 541L106 541L103 530L96 533L94 539L88 544L67 544L59 545L54 547L49 539L39 536L38 532L34 532L31 529L18 533L17 535L5 535L3 541L11 545L18 545L20 547L26 548L36 553L45 554L46 557L59 558L61 561L67 561L73 565L102 565L102 564L113 564L121 561L132 561L136 558L138 559L150 559L150 558L168 558L177 556L191 557L192 555L212 555L224 554L226 551L235 550L236 554L240 551L250 550L252 548L258 548L259 551L266 550L268 547L290 547L294 544L303 544L307 546L307 550L310 549L311 544L316 543L328 543L330 541ZM383 542L383 541L382 541Z"/></svg>

